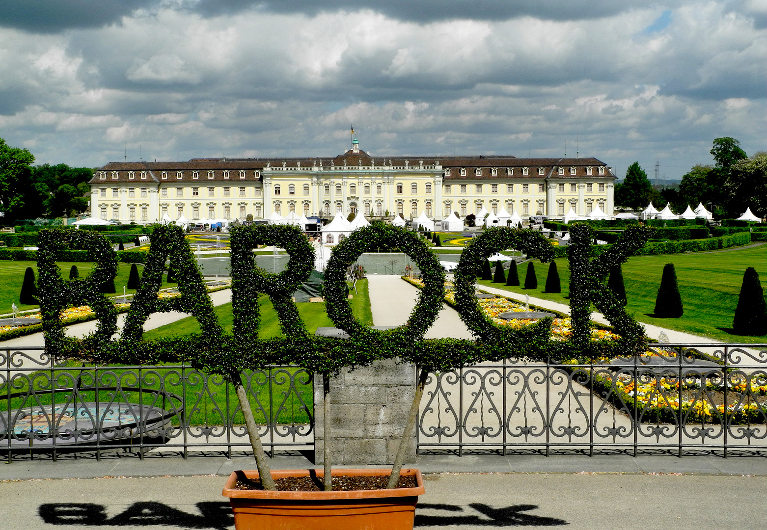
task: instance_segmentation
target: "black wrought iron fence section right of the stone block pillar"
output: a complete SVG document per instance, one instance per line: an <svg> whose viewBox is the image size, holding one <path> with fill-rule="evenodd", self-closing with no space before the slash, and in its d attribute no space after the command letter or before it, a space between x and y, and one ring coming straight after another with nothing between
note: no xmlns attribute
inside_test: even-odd
<svg viewBox="0 0 767 530"><path fill-rule="evenodd" d="M418 451L767 456L767 344L651 351L433 376Z"/></svg>

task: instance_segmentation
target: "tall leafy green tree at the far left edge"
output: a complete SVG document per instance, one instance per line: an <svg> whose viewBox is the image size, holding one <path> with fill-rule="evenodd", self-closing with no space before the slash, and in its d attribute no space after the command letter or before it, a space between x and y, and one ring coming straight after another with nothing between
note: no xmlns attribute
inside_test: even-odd
<svg viewBox="0 0 767 530"><path fill-rule="evenodd" d="M33 162L35 156L28 150L9 146L0 138L0 211L5 212L6 218L25 219L28 212L39 209L40 193L30 178ZM29 201L28 193L35 193L40 202Z"/></svg>

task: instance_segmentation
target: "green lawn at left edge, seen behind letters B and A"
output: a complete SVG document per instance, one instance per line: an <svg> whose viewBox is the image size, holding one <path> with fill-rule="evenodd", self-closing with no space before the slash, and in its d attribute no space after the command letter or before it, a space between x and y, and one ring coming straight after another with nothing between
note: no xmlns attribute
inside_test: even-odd
<svg viewBox="0 0 767 530"><path fill-rule="evenodd" d="M77 265L77 270L80 272L80 277L84 277L94 267L94 263L88 262L58 262L59 268L61 268L61 276L65 280L69 278L69 269L72 265ZM38 263L37 262L10 262L0 261L0 314L10 313L11 304L15 303L21 311L25 309L37 308L37 305L19 305L18 295L21 292L21 283L24 281L24 272L27 267L31 267L35 270L35 279L38 277ZM139 264L139 275L143 274L143 265ZM130 264L119 263L117 265L117 276L114 278L114 285L117 290L116 295L123 294L123 286L128 283L128 275L130 275ZM175 283L163 282L163 288L174 287ZM127 294L133 294L136 292L134 289L127 289Z"/></svg>

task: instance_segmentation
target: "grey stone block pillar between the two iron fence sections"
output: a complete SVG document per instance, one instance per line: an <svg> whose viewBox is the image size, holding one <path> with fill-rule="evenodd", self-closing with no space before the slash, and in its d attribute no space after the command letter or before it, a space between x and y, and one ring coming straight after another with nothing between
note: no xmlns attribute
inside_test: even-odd
<svg viewBox="0 0 767 530"><path fill-rule="evenodd" d="M314 462L323 463L322 377L314 380ZM331 380L333 463L393 463L416 391L416 367L383 360ZM407 462L416 459L413 432Z"/></svg>

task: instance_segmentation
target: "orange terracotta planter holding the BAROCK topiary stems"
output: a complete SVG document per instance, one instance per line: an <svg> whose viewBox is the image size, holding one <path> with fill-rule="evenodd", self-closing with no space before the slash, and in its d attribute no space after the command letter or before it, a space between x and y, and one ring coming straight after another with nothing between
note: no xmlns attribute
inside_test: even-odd
<svg viewBox="0 0 767 530"><path fill-rule="evenodd" d="M322 469L316 470L322 480ZM334 469L333 476L388 476L389 469ZM258 471L245 471L257 479ZM309 476L308 469L272 471L275 479ZM234 489L235 473L226 481L222 495L229 497L237 530L412 530L418 495L426 490L418 469L403 469L402 476L415 476L415 488L370 489L352 492L279 492Z"/></svg>

